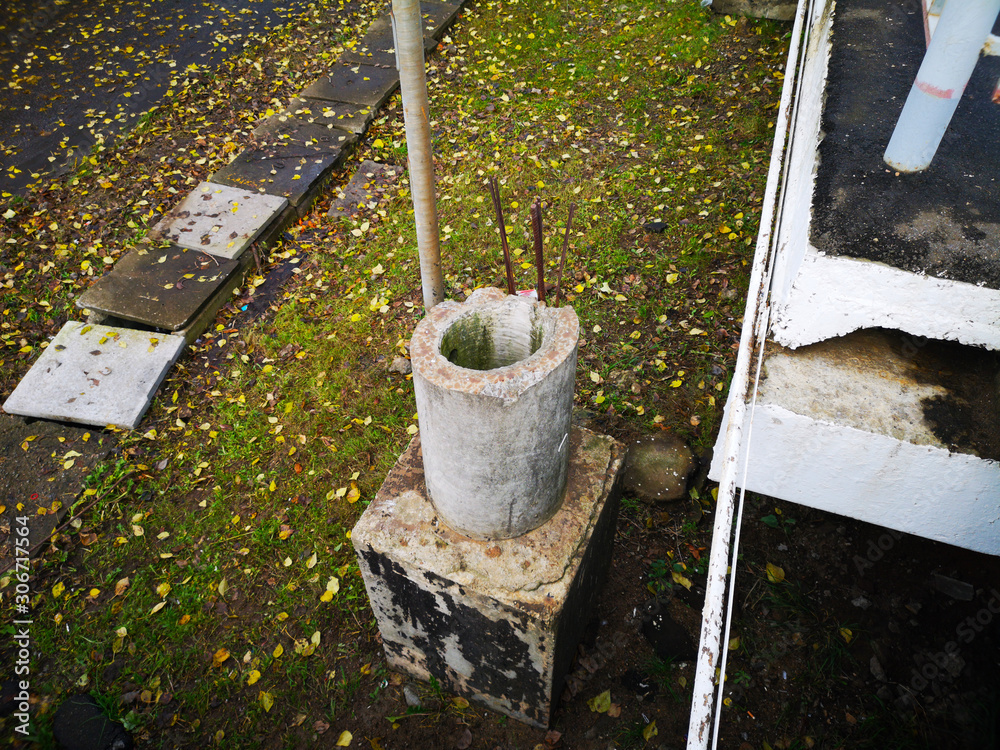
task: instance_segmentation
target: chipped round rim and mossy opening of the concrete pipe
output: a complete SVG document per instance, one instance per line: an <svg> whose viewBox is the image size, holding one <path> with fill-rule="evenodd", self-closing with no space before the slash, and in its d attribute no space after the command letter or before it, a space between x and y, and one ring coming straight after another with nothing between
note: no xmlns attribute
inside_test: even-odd
<svg viewBox="0 0 1000 750"><path fill-rule="evenodd" d="M414 372L439 388L513 401L575 361L579 334L572 307L478 289L464 303L435 306L417 324L410 359Z"/></svg>

